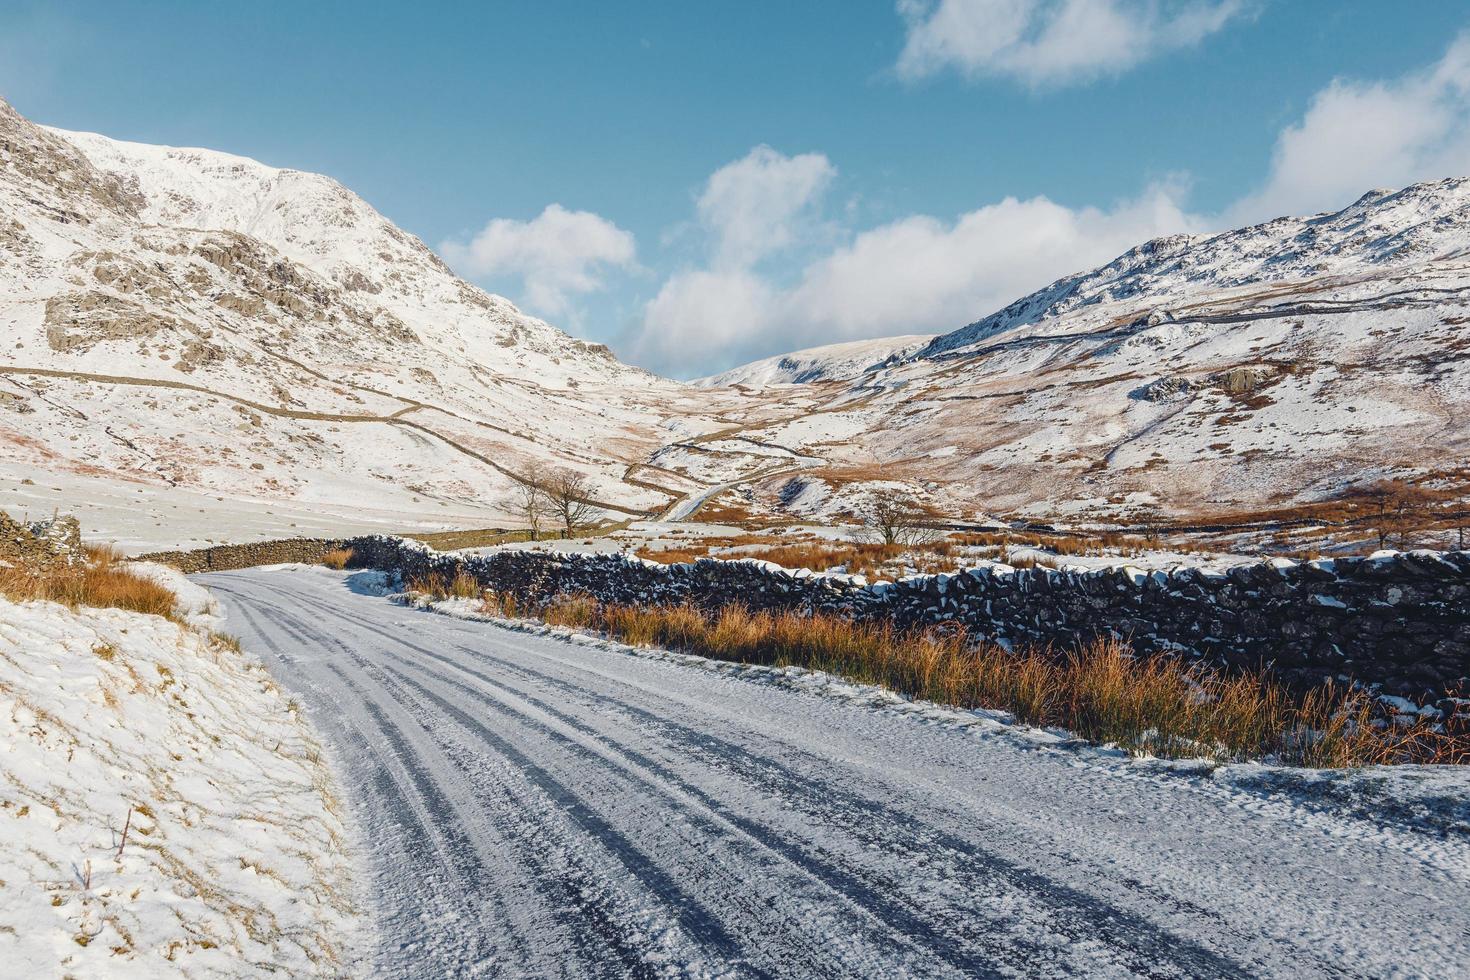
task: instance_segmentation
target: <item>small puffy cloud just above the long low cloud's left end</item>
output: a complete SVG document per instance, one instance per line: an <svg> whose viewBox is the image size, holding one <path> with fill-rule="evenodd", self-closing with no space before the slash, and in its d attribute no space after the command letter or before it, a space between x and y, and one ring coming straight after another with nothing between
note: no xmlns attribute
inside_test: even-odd
<svg viewBox="0 0 1470 980"><path fill-rule="evenodd" d="M835 173L820 153L788 157L767 145L711 173L697 210L716 237L716 266L744 269L791 245L797 220Z"/></svg>

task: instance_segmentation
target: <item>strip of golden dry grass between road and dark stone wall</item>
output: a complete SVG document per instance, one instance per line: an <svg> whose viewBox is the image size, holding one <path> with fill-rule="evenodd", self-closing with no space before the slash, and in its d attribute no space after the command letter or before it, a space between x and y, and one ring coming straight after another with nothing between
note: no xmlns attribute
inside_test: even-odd
<svg viewBox="0 0 1470 980"><path fill-rule="evenodd" d="M484 610L520 616L509 597ZM1276 758L1307 767L1470 761L1470 732L1376 724L1354 691L1291 692L1260 673L1226 673L1114 641L1058 654L1010 652L956 627L898 630L831 616L753 613L739 605L601 605L587 597L534 610L547 623L626 644L750 664L800 666L960 708L998 708L1020 721L1164 758Z"/></svg>

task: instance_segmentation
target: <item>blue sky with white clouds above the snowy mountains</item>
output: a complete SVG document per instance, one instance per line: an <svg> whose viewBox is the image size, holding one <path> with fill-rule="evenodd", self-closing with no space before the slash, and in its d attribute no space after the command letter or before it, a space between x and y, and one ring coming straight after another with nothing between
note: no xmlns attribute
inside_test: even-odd
<svg viewBox="0 0 1470 980"><path fill-rule="evenodd" d="M0 93L329 173L689 376L1470 172L1467 28L1429 0L10 0Z"/></svg>

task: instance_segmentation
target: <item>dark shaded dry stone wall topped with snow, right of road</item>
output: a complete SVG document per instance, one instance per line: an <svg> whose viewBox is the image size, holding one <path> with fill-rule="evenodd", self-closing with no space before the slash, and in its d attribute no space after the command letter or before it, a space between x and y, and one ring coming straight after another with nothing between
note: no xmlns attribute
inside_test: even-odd
<svg viewBox="0 0 1470 980"><path fill-rule="evenodd" d="M345 545L365 567L406 577L463 570L529 601L588 594L607 602L742 602L901 626L957 621L1003 642L1057 646L1120 636L1145 654L1272 666L1294 683L1352 677L1419 701L1470 691L1470 552L1463 551L1277 558L1229 572L985 566L869 585L764 561L662 566L528 551L462 557L381 536Z"/></svg>

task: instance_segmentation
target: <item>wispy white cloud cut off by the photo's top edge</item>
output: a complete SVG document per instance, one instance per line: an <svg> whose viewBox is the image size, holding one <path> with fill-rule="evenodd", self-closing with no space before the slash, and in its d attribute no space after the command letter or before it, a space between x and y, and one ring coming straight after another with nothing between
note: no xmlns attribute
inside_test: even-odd
<svg viewBox="0 0 1470 980"><path fill-rule="evenodd" d="M907 24L898 73L1086 81L1198 44L1251 9L1247 0L898 0Z"/></svg>

